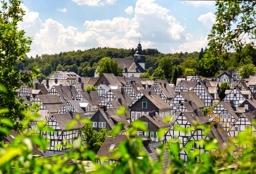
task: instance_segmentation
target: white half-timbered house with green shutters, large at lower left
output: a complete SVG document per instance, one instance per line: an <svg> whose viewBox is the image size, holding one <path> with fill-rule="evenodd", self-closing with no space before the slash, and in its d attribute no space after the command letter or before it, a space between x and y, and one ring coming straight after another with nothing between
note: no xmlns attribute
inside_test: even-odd
<svg viewBox="0 0 256 174"><path fill-rule="evenodd" d="M78 114L79 118L75 117L75 114ZM48 142L47 149L43 150L45 156L62 154L72 150L70 144L73 143L73 139L79 136L79 130L84 126L80 120L86 118L83 113L75 114L64 113L50 116L45 126L50 127L53 131L41 132L41 135ZM68 123L73 120L78 120L78 122L67 130Z"/></svg>

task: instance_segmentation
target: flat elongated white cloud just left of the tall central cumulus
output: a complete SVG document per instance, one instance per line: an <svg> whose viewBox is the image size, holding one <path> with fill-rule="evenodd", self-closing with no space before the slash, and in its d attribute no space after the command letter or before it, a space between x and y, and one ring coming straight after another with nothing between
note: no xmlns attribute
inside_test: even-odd
<svg viewBox="0 0 256 174"><path fill-rule="evenodd" d="M112 20L87 20L84 22L84 26L89 31L113 34L116 32L128 32L129 22L129 18L116 17Z"/></svg>

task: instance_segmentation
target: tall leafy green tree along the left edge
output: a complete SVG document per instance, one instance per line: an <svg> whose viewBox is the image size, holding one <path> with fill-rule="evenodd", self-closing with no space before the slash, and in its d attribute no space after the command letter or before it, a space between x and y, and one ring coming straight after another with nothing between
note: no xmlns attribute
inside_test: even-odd
<svg viewBox="0 0 256 174"><path fill-rule="evenodd" d="M23 73L14 68L17 60L25 61L31 44L31 39L25 36L24 30L18 30L18 23L25 15L20 4L21 1L16 0L10 1L8 5L1 1L0 8L0 109L5 108L0 112L0 118L9 118L14 123L14 128L19 130L22 129L22 123L17 120L25 117L25 105L22 104L22 99L16 98L16 90L24 83L33 87L30 80L36 77L35 73ZM33 69L38 73L37 68Z"/></svg>

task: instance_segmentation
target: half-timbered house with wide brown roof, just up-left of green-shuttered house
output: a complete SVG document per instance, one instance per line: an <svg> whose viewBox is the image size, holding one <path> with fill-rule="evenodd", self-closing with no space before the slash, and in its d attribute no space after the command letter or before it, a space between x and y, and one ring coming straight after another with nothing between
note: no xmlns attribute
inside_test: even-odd
<svg viewBox="0 0 256 174"><path fill-rule="evenodd" d="M34 103L39 104L39 110L47 109L51 114L57 113L60 107L63 106L63 102L58 95L37 95L30 106Z"/></svg>

